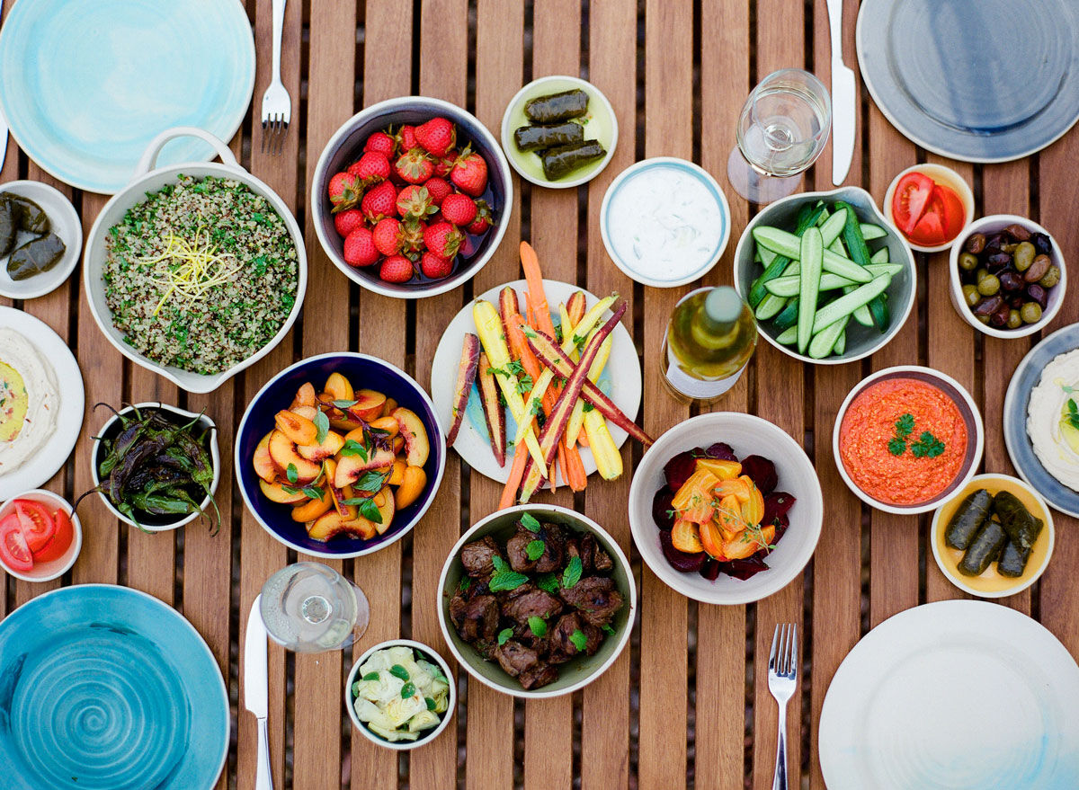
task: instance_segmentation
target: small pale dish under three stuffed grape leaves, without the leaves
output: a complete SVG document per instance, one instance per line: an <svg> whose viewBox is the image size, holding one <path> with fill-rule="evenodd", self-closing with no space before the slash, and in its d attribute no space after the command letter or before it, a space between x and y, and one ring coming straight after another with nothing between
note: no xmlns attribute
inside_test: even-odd
<svg viewBox="0 0 1079 790"><path fill-rule="evenodd" d="M543 173L543 163L535 151L518 151L514 144L514 132L520 126L528 126L531 122L524 114L527 101L562 91L581 88L588 94L588 114L585 117L587 123L584 124L585 139L599 140L606 149L603 159L590 162L575 174L557 181L549 180ZM537 187L549 189L570 189L587 183L603 172L611 158L614 155L615 146L618 145L618 119L614 114L611 101L603 95L596 85L576 77L541 77L533 80L509 99L506 105L506 112L502 117L502 150L506 159L517 175L527 181L531 181Z"/></svg>

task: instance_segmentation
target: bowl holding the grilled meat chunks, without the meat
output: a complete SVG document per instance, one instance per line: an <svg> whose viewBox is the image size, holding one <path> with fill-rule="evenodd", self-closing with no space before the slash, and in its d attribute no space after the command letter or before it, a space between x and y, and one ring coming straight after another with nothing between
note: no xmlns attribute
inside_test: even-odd
<svg viewBox="0 0 1079 790"><path fill-rule="evenodd" d="M450 598L453 596L464 569L461 566L461 548L466 543L481 540L491 535L498 543L504 543L516 531L517 520L521 513L530 513L542 521L550 521L560 525L577 533L591 532L599 545L611 555L614 560L614 571L612 577L615 586L626 601L625 605L615 615L611 626L614 628L613 635L607 635L603 644L591 656L579 656L568 664L559 666L559 678L554 683L549 683L534 691L525 691L515 678L507 675L497 662L487 662L479 652L470 644L457 636L456 629L450 622ZM629 642L629 634L633 629L633 619L637 614L637 585L633 581L633 572L629 567L629 561L622 548L609 535L602 527L589 518L578 513L559 507L557 505L519 505L505 510L492 513L487 518L480 520L472 529L461 536L461 540L453 546L446 564L442 567L442 576L438 582L440 595L438 607L438 624L442 628L442 637L453 653L453 657L463 666L468 673L479 682L491 686L495 691L510 694L524 699L538 699L542 697L557 697L562 694L572 694L584 687L592 680L602 675L607 667L614 664L618 654Z"/></svg>

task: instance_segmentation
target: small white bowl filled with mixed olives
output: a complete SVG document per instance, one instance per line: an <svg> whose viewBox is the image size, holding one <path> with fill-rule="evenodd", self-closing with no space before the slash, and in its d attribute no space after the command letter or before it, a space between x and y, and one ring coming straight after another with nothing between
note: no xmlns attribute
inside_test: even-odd
<svg viewBox="0 0 1079 790"><path fill-rule="evenodd" d="M948 264L956 312L995 338L1033 335L1064 301L1060 245L1023 217L995 214L972 222L952 247Z"/></svg>

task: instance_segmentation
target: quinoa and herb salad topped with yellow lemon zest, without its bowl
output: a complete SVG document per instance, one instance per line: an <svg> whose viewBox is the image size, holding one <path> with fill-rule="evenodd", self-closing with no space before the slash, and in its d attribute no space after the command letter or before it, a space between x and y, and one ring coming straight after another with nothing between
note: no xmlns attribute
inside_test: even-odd
<svg viewBox="0 0 1079 790"><path fill-rule="evenodd" d="M296 245L240 181L181 175L110 228L105 248L113 323L162 365L227 370L269 343L296 303Z"/></svg>

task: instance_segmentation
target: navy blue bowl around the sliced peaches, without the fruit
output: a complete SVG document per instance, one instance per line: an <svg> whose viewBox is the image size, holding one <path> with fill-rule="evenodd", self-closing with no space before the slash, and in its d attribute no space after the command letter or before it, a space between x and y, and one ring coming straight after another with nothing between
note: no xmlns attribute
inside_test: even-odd
<svg viewBox="0 0 1079 790"><path fill-rule="evenodd" d="M285 509L285 505L269 502L262 496L258 487L258 477L255 475L250 464L250 455L254 452L255 446L264 433L261 431L261 426L267 426L267 430L269 431L273 424L273 420L268 419L264 422L260 422L259 427L256 427L254 424L249 425L252 413L259 407L264 407L267 410L271 411L271 413L276 412L278 409L288 408L288 405L291 403L295 395L295 391L285 391L281 394L281 397L275 400L273 406L270 406L267 401L277 395L274 390L276 387L281 387L283 382L291 378L293 374L297 374L300 371L306 371L309 368L317 367L319 364L325 364L330 360L334 360L343 365L347 365L350 363L371 365L381 370L386 378L397 379L401 384L401 389L408 390L410 395L404 392L387 392L386 395L388 397L393 397L399 405L405 406L406 408L411 408L416 412L416 414L419 414L420 419L423 421L424 427L427 431L427 439L431 442L431 454L427 458L427 463L424 465L424 471L427 472L427 488L424 490L420 499L395 514L394 522L391 526L391 529L388 529L384 534L377 535L370 540L340 535L330 541L323 542L314 541L308 537L306 534L304 534L303 525L292 521L288 510ZM347 371L342 372L349 376L350 380L352 380L354 374L350 374ZM311 376L306 376L302 379L300 376L297 376L297 381L299 383L310 381L311 379ZM299 386L299 383L297 386ZM420 519L423 518L431 504L435 501L435 495L438 493L438 488L442 482L442 474L446 469L446 436L442 432L441 425L435 417L434 404L432 404L431 397L427 395L426 391L420 386L415 379L398 368L396 365L392 365L385 359L380 359L377 356L360 354L352 351L336 351L304 357L303 359L300 359L299 362L289 365L284 370L275 373L265 384L262 385L258 393L256 393L255 397L252 397L247 404L247 408L244 410L244 416L240 421L240 427L236 430L233 463L236 467L236 483L240 487L240 493L244 499L244 504L247 507L248 513L250 513L255 517L255 520L262 526L262 529L273 535L275 540L302 554L327 559L345 559L350 557L361 557L364 555L378 551L379 549L385 548L392 543L399 541L409 531L411 531ZM281 508L279 516L277 518L271 520L263 517L262 513L260 513L260 507L264 508L269 506Z"/></svg>

